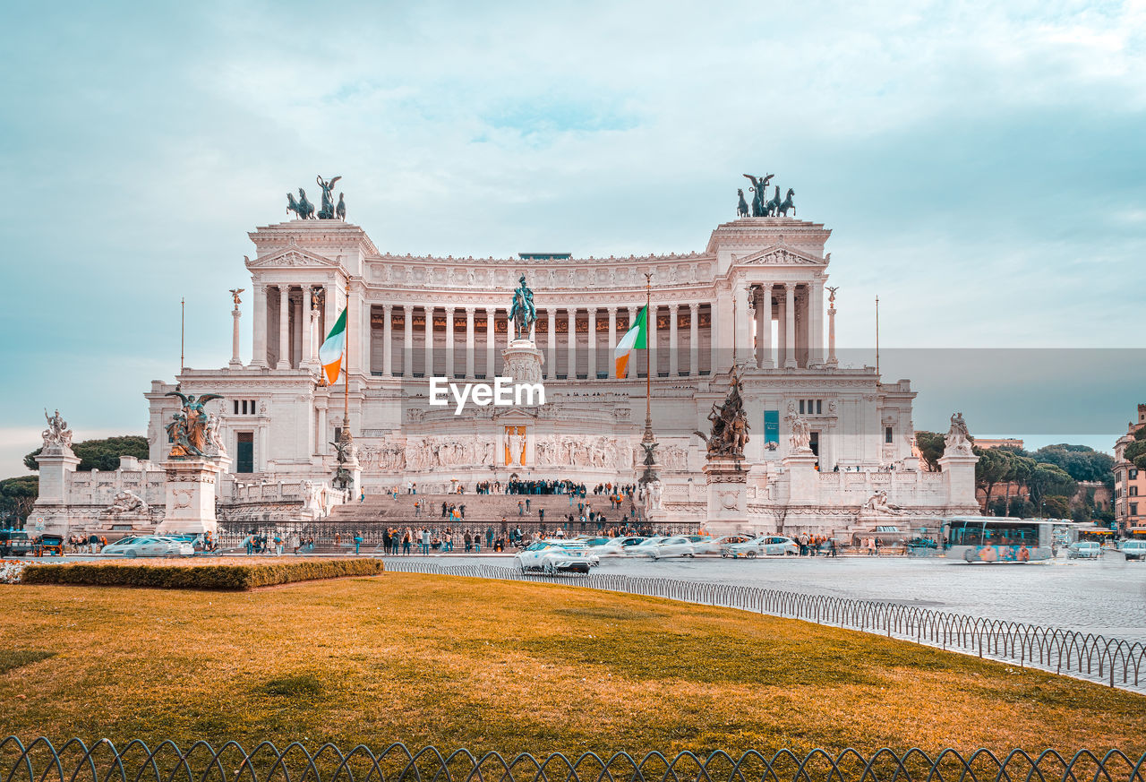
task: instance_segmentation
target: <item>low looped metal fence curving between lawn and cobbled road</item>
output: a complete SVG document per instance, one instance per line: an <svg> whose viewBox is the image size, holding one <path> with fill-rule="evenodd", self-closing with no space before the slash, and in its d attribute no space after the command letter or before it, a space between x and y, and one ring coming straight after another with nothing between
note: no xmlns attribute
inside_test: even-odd
<svg viewBox="0 0 1146 782"><path fill-rule="evenodd" d="M486 564L447 566L424 560L387 558L386 569L409 573L572 584L609 592L736 608L879 633L888 638L1100 681L1110 687L1135 690L1146 688L1146 644L1059 627L736 584L613 573L543 576L523 573L516 568Z"/></svg>

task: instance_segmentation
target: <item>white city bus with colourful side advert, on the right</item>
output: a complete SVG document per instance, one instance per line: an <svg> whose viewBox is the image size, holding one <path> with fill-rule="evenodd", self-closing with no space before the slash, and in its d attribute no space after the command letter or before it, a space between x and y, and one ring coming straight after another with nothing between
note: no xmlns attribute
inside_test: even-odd
<svg viewBox="0 0 1146 782"><path fill-rule="evenodd" d="M943 522L955 562L1045 562L1054 558L1054 523L1033 518L957 516Z"/></svg>

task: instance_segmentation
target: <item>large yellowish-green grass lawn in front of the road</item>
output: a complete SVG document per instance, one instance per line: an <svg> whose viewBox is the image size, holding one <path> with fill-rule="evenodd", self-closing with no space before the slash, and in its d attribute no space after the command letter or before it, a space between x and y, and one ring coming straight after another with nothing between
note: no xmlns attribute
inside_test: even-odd
<svg viewBox="0 0 1146 782"><path fill-rule="evenodd" d="M9 586L0 601L0 734L22 738L1146 749L1138 695L565 586L388 573L250 593Z"/></svg>

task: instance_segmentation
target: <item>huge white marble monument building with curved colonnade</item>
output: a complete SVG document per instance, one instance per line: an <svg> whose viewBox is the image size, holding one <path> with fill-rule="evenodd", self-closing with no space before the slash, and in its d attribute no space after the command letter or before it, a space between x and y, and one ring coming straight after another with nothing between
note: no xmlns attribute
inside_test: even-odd
<svg viewBox="0 0 1146 782"><path fill-rule="evenodd" d="M880 491L903 515L973 511L973 458L927 472L912 455L910 382L838 366L834 311L825 310L830 234L791 218L741 218L717 226L697 252L494 259L383 252L340 220L264 226L250 234L253 304L249 315L236 306L230 362L186 369L179 382L185 392L226 397L214 408L231 460L219 484L223 506L251 486L329 482L344 406L368 492L407 480L423 492L452 480L472 486L515 472L631 483L651 363L664 507L672 521L700 523L705 449L693 432L707 431L736 363L744 368L756 526L774 526L783 507L787 527L842 527ZM645 303L646 272L656 313L647 363L641 358L629 378L617 378L612 347ZM461 382L502 372L507 310L523 274L537 307L548 404L462 416L429 407L427 374ZM317 346L347 297L344 398L342 381L320 384ZM253 329L249 358L238 354L244 321ZM166 458L164 423L176 401L164 393L173 388L155 381L146 394L155 463ZM794 416L809 424L818 462L811 475L785 466ZM510 453L510 436L520 453Z"/></svg>

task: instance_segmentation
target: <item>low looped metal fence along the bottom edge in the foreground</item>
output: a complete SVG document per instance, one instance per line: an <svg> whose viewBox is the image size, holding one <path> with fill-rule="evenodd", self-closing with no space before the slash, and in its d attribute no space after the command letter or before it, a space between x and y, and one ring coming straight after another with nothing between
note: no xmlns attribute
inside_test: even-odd
<svg viewBox="0 0 1146 782"><path fill-rule="evenodd" d="M5 782L1146 782L1146 754L847 749L566 756L446 752L398 743L379 751L361 744L348 751L322 744L311 751L298 742L283 749L262 742L248 751L236 742L217 749L199 741L185 750L171 741L151 748L136 740L119 749L105 738L91 746L72 738L57 748L46 738L24 745L8 736L0 741L0 777Z"/></svg>

